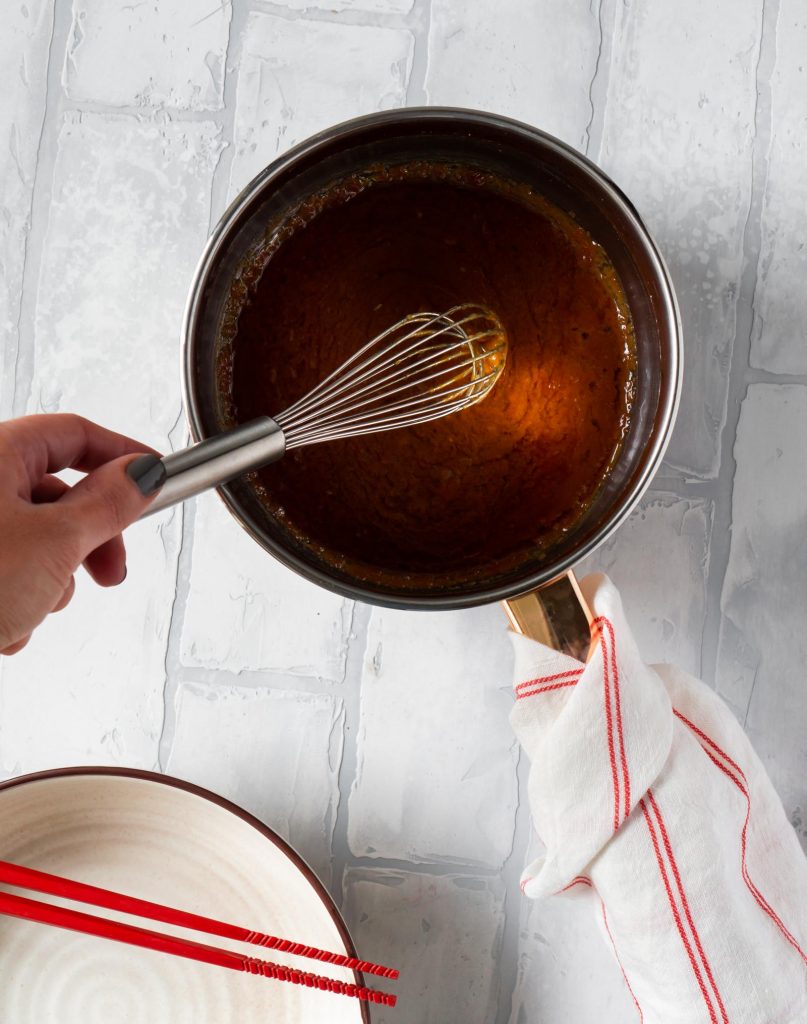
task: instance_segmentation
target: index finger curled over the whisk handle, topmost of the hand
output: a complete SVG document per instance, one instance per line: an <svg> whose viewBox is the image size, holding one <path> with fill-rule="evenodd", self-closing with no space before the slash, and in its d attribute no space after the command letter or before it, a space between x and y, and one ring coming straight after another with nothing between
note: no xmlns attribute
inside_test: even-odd
<svg viewBox="0 0 807 1024"><path fill-rule="evenodd" d="M141 441L70 413L24 416L0 424L0 459L17 467L17 476L36 483L60 469L89 472L113 459L153 450ZM9 474L0 473L0 477ZM17 481L19 482L19 481Z"/></svg>

